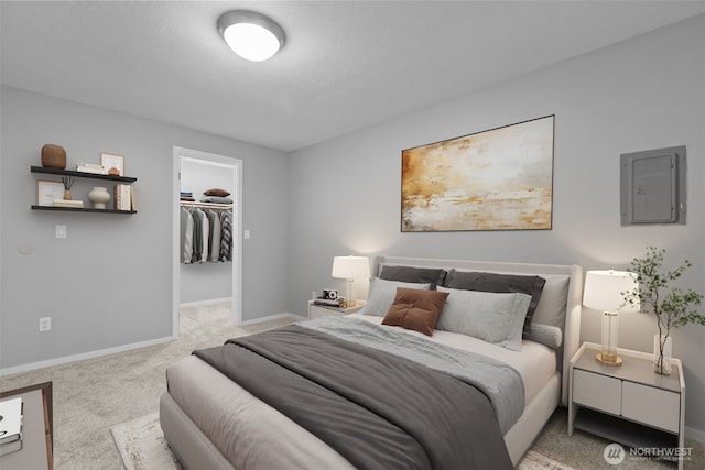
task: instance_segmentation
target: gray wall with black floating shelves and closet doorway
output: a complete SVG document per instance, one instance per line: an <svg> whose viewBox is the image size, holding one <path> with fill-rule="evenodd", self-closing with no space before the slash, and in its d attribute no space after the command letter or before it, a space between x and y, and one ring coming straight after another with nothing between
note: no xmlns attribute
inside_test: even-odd
<svg viewBox="0 0 705 470"><path fill-rule="evenodd" d="M243 320L286 311L290 161L280 151L22 91L1 89L2 237L0 369L89 353L172 335L173 146L243 161ZM30 210L45 143L68 167L121 153L134 176L138 214ZM75 198L87 185L76 183ZM68 238L54 238L54 226ZM18 247L33 247L20 254ZM52 330L39 332L39 318Z"/></svg>

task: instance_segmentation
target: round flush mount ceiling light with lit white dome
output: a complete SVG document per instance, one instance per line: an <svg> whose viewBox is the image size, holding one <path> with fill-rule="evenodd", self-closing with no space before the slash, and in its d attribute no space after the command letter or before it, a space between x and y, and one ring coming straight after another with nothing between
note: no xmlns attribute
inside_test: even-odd
<svg viewBox="0 0 705 470"><path fill-rule="evenodd" d="M284 45L284 30L263 14L235 10L218 18L218 32L237 55L267 61Z"/></svg>

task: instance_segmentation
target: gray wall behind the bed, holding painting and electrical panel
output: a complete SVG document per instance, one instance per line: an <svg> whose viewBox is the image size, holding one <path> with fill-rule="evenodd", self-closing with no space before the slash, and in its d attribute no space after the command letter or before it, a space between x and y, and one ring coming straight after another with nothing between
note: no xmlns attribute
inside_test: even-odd
<svg viewBox="0 0 705 470"><path fill-rule="evenodd" d="M384 253L577 263L623 269L647 244L688 258L682 280L705 293L705 15L451 102L293 154L291 308L330 278L334 255ZM555 114L554 208L550 231L400 232L401 151ZM620 227L619 155L687 145L685 226ZM702 310L705 313L705 310ZM599 342L586 310L582 340ZM652 316L620 316L619 345L652 350ZM705 327L675 331L687 386L686 424L705 439Z"/></svg>

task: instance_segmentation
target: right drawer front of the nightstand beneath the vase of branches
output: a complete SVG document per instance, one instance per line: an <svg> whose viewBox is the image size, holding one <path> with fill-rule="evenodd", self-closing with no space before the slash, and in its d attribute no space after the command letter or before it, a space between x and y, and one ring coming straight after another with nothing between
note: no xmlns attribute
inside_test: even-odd
<svg viewBox="0 0 705 470"><path fill-rule="evenodd" d="M626 418L677 434L681 395L625 381L621 414Z"/></svg>

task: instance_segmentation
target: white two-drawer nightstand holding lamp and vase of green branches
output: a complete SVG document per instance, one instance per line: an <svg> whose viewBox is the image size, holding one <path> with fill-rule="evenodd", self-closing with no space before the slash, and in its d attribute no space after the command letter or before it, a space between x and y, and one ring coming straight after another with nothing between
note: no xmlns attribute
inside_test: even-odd
<svg viewBox="0 0 705 470"><path fill-rule="evenodd" d="M634 449L682 449L685 381L681 361L673 359L671 374L660 375L653 372L651 353L618 349L623 364L614 367L595 360L599 350L599 345L585 342L571 360L568 436L578 428Z"/></svg>

